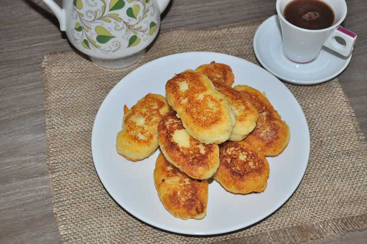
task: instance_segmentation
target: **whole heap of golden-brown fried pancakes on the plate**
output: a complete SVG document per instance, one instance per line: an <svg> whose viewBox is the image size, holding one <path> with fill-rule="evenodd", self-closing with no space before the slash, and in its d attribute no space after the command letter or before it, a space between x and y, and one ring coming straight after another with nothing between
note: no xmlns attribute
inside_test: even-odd
<svg viewBox="0 0 367 244"><path fill-rule="evenodd" d="M228 192L262 192L269 165L290 129L264 94L232 87L230 66L211 62L174 75L165 96L148 94L124 107L118 153L137 161L160 147L154 184L164 207L181 219L206 215L208 179Z"/></svg>

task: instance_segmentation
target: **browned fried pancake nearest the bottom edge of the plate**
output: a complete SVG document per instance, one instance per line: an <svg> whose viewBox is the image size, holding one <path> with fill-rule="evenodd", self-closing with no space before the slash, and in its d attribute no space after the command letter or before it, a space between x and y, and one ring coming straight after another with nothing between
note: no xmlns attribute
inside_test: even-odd
<svg viewBox="0 0 367 244"><path fill-rule="evenodd" d="M154 185L163 206L181 219L201 219L207 213L208 182L194 180L169 164L162 153L155 162Z"/></svg>

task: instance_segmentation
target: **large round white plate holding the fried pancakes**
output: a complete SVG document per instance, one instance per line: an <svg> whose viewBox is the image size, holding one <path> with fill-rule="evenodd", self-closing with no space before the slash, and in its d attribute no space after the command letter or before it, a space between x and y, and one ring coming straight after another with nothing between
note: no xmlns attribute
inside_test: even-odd
<svg viewBox="0 0 367 244"><path fill-rule="evenodd" d="M133 162L116 152L123 107L131 108L148 93L165 96L165 84L174 74L211 61L228 64L234 85L249 85L261 92L291 128L288 147L277 157L267 157L270 175L259 194L235 195L217 182L209 184L207 215L181 220L159 200L153 171L159 149L150 157ZM293 194L305 173L310 136L307 122L292 93L265 69L234 56L211 52L178 53L153 60L126 75L103 101L91 135L93 160L106 190L126 211L155 227L183 234L209 235L249 226L277 210ZM106 216L108 217L108 216Z"/></svg>

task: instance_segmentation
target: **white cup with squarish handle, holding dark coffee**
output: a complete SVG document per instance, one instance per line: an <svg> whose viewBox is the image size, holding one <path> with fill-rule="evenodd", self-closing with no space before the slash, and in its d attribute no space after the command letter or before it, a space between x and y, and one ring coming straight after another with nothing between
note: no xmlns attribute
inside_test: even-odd
<svg viewBox="0 0 367 244"><path fill-rule="evenodd" d="M332 26L320 30L303 29L285 19L284 9L292 1L277 0L276 4L282 29L283 50L289 59L299 63L310 62L318 56L322 46L326 46L343 56L350 55L357 35L340 26L347 13L345 0L320 0L334 12ZM337 41L335 37L343 39L345 45Z"/></svg>

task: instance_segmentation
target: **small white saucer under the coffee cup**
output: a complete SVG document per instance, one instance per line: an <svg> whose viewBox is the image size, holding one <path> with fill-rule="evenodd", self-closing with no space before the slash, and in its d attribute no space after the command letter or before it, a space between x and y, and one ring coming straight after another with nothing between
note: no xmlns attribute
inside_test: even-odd
<svg viewBox="0 0 367 244"><path fill-rule="evenodd" d="M277 15L265 20L253 38L253 50L260 64L285 82L313 85L326 82L343 71L352 54L343 57L323 47L319 56L309 63L296 63L286 57L282 47L282 32Z"/></svg>

